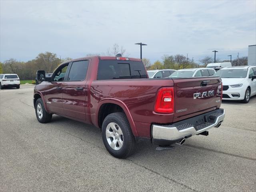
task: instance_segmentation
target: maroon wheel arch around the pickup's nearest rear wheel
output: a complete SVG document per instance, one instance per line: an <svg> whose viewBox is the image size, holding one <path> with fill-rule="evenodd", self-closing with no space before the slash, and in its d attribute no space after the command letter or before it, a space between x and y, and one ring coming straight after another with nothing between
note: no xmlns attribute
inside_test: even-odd
<svg viewBox="0 0 256 192"><path fill-rule="evenodd" d="M107 112L105 112L105 110L107 110ZM96 126L101 129L104 118L112 112L124 112L130 123L133 135L138 136L136 126L134 124L132 115L130 114L128 107L126 106L126 104L124 104L124 102L115 98L106 98L102 99L99 102L98 109L96 111Z"/></svg>

